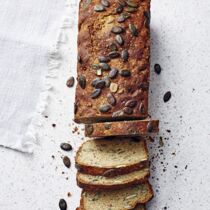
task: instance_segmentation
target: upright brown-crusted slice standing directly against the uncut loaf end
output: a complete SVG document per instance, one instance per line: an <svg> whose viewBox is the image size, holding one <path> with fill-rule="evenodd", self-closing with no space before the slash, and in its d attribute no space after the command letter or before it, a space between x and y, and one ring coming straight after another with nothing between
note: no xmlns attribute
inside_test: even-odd
<svg viewBox="0 0 210 210"><path fill-rule="evenodd" d="M134 120L118 122L102 122L85 125L85 135L88 137L108 136L142 136L158 133L158 120Z"/></svg>

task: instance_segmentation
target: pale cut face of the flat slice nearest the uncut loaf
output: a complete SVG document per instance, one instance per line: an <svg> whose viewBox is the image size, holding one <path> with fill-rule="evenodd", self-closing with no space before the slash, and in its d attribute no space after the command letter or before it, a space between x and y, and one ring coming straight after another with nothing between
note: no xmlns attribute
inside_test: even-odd
<svg viewBox="0 0 210 210"><path fill-rule="evenodd" d="M88 140L76 155L78 165L120 168L148 160L145 141L132 138Z"/></svg>

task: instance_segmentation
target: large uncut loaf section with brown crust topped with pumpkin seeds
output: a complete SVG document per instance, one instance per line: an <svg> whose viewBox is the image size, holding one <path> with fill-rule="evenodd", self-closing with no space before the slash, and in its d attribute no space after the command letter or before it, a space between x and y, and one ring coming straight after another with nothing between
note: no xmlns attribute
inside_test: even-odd
<svg viewBox="0 0 210 210"><path fill-rule="evenodd" d="M110 6L104 7L100 0L80 1L77 123L148 117L150 0L135 2L120 6L119 1L109 0ZM113 59L113 52L119 57ZM99 61L99 56L108 61Z"/></svg>

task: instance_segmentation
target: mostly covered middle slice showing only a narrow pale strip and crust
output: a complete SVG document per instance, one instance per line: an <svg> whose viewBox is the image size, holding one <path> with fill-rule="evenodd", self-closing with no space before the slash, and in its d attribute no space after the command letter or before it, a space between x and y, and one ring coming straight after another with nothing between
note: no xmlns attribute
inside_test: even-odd
<svg viewBox="0 0 210 210"><path fill-rule="evenodd" d="M113 190L143 183L148 177L149 168L115 177L93 176L78 172L77 184L86 190Z"/></svg>

